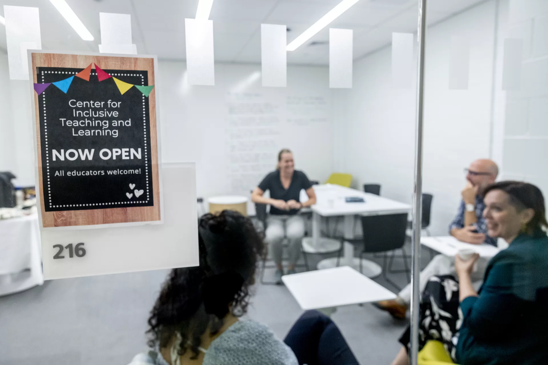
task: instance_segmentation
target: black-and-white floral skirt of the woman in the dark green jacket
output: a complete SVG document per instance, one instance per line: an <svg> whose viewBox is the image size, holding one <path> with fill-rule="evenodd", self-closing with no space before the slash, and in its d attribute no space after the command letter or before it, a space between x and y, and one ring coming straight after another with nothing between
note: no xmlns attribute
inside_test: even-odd
<svg viewBox="0 0 548 365"><path fill-rule="evenodd" d="M459 282L452 275L432 276L420 299L419 350L429 340L443 343L455 361L455 346L463 312L459 307ZM399 338L409 352L411 328Z"/></svg>

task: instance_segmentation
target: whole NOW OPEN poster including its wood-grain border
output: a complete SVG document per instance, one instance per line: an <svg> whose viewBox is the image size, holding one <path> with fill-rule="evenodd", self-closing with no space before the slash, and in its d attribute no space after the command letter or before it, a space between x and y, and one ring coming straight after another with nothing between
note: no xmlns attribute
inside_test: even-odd
<svg viewBox="0 0 548 365"><path fill-rule="evenodd" d="M89 59L83 67L33 67L43 218L54 213L52 226L159 220L153 69ZM139 207L153 210L130 210ZM71 211L68 219L55 214Z"/></svg>

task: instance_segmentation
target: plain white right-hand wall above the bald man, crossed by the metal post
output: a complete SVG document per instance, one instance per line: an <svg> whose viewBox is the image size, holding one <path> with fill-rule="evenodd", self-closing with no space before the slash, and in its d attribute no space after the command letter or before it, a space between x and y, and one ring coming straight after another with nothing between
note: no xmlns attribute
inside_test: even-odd
<svg viewBox="0 0 548 365"><path fill-rule="evenodd" d="M451 36L470 39L468 90L449 90ZM434 195L431 232L447 234L465 180L463 168L489 157L495 1L478 5L427 32L423 191ZM415 89L393 89L391 49L354 64L335 166L355 185L380 183L381 194L411 202L414 184Z"/></svg>

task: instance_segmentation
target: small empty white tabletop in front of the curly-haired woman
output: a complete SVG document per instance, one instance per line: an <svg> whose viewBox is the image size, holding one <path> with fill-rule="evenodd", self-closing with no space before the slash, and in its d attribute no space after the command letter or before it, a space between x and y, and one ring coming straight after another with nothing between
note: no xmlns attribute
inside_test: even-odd
<svg viewBox="0 0 548 365"><path fill-rule="evenodd" d="M396 294L349 266L284 275L282 281L304 310L333 312L326 309L396 298Z"/></svg>

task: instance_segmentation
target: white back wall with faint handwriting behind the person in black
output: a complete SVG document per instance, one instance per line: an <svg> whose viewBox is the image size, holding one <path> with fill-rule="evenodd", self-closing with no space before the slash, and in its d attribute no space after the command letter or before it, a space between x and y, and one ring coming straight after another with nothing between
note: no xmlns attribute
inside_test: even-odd
<svg viewBox="0 0 548 365"><path fill-rule="evenodd" d="M260 65L215 65L215 86L189 86L185 64L159 62L162 159L196 162L198 196L249 195L293 150L311 180L333 172L327 67L288 67L286 88L261 86Z"/></svg>

